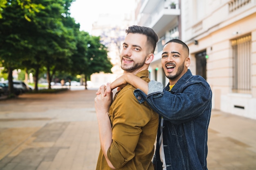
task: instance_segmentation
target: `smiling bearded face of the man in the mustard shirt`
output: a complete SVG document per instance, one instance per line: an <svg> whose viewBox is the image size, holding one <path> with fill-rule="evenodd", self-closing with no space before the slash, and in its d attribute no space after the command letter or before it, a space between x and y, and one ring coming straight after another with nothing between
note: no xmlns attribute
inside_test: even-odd
<svg viewBox="0 0 256 170"><path fill-rule="evenodd" d="M121 51L121 68L124 73L137 74L148 69L154 55L147 48L147 37L143 34L128 33Z"/></svg>

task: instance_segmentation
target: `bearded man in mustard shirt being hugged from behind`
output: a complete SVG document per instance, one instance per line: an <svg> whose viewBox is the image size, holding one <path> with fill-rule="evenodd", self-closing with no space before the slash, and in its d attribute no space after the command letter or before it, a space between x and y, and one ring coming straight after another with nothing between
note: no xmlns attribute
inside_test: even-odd
<svg viewBox="0 0 256 170"><path fill-rule="evenodd" d="M148 66L158 41L153 29L130 26L121 51L121 68L149 82ZM108 91L108 95L104 95ZM101 150L97 170L153 170L151 162L158 128L158 114L134 96L126 85L112 101L110 83L102 85L95 98Z"/></svg>

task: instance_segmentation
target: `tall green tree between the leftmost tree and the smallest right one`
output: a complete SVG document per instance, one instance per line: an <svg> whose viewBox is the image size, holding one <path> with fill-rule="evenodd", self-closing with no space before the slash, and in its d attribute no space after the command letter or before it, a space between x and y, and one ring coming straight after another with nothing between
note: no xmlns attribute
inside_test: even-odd
<svg viewBox="0 0 256 170"><path fill-rule="evenodd" d="M47 68L48 88L52 76L57 70L65 70L70 65L70 56L76 49L74 30L80 25L70 17L68 8L72 0L50 0L43 1L45 10L38 13L37 20L37 41L35 42L36 53L40 65ZM40 41L40 43L38 43ZM43 45L43 48L42 48ZM38 74L37 74L38 75Z"/></svg>

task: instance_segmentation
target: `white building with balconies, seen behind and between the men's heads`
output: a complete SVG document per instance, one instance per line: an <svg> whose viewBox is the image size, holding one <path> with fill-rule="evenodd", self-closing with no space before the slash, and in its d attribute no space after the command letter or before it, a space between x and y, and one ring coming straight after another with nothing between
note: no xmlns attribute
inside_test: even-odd
<svg viewBox="0 0 256 170"><path fill-rule="evenodd" d="M162 70L161 58L164 44L181 36L180 0L137 0L135 20L139 26L152 28L158 35L155 59L150 63L150 79L167 85L168 79Z"/></svg>

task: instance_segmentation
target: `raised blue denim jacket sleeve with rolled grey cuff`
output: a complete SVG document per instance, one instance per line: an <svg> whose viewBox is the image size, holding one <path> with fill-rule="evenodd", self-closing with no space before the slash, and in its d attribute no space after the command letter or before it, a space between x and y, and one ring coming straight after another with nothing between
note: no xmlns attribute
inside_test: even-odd
<svg viewBox="0 0 256 170"><path fill-rule="evenodd" d="M135 96L141 95L160 116L174 124L189 121L203 113L211 102L211 89L202 81L186 82L172 94L165 91L157 81L148 83L148 95L140 89Z"/></svg>

